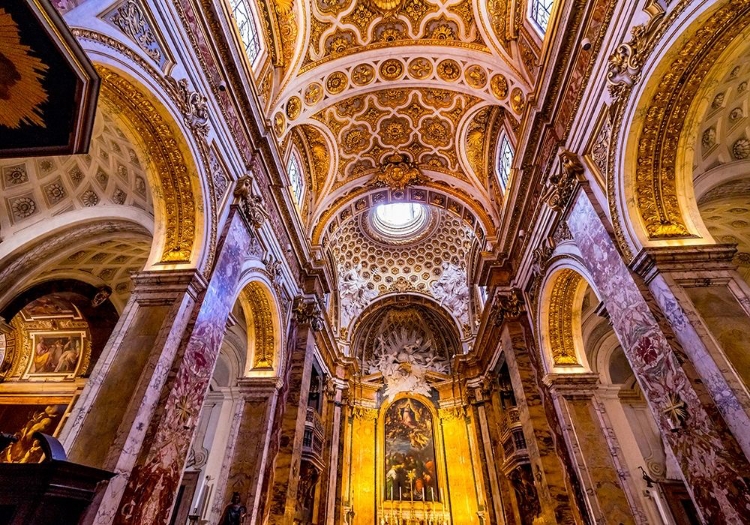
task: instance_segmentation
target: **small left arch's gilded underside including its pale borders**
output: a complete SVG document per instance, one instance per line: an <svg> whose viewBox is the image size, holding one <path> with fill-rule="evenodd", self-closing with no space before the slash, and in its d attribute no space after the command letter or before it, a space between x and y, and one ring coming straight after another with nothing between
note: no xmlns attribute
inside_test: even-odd
<svg viewBox="0 0 750 525"><path fill-rule="evenodd" d="M247 283L239 294L247 328L244 376L277 375L282 364L281 312L276 296L260 280Z"/></svg>

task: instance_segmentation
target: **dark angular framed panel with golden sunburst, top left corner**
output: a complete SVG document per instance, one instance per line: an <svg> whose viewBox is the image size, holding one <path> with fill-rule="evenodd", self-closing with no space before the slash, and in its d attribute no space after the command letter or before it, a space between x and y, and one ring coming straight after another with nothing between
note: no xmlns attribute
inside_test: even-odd
<svg viewBox="0 0 750 525"><path fill-rule="evenodd" d="M99 77L49 0L0 2L0 157L85 153Z"/></svg>

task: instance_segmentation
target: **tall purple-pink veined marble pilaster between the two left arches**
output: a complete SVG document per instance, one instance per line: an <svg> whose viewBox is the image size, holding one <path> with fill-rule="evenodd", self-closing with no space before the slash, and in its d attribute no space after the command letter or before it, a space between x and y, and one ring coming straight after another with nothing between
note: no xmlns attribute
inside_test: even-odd
<svg viewBox="0 0 750 525"><path fill-rule="evenodd" d="M213 276L161 392L160 406L143 443L128 443L141 453L128 479L113 523L168 523L235 298L242 262L251 237L234 215L220 246Z"/></svg>

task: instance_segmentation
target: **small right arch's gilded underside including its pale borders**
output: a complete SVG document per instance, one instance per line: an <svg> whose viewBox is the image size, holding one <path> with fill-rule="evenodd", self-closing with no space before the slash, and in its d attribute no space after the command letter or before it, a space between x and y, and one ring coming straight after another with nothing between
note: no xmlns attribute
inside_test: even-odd
<svg viewBox="0 0 750 525"><path fill-rule="evenodd" d="M590 371L583 347L581 313L584 305L596 298L592 289L574 261L560 261L548 272L539 301L540 348L548 373Z"/></svg>

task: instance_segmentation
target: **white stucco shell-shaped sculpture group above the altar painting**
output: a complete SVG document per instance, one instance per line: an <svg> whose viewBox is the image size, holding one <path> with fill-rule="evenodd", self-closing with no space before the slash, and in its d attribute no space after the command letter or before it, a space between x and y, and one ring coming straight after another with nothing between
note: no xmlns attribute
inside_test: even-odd
<svg viewBox="0 0 750 525"><path fill-rule="evenodd" d="M383 374L386 398L399 392L413 392L429 397L427 372L446 373L447 370L447 362L437 354L429 338L401 327L388 336L383 333L377 336L368 373Z"/></svg>

